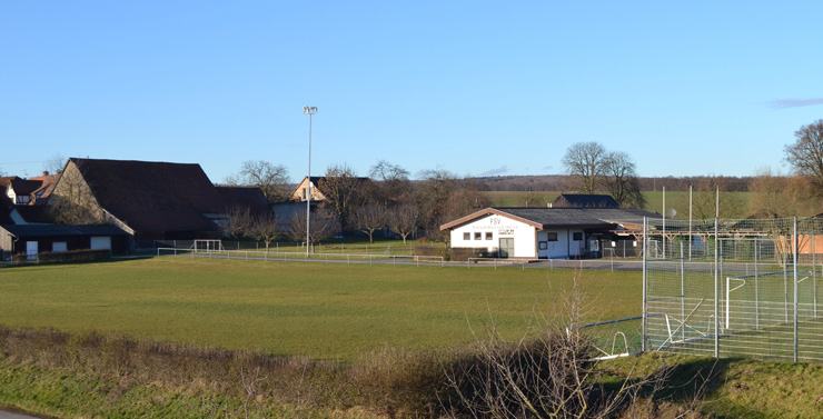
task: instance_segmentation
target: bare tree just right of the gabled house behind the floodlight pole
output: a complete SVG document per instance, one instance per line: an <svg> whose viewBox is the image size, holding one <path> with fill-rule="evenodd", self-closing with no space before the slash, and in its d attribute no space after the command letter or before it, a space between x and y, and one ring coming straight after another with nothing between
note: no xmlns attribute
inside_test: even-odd
<svg viewBox="0 0 823 419"><path fill-rule="evenodd" d="M326 197L323 206L337 215L341 232L348 229L351 212L363 201L360 193L363 182L364 179L358 178L350 167L341 164L328 168L326 177L317 184Z"/></svg>

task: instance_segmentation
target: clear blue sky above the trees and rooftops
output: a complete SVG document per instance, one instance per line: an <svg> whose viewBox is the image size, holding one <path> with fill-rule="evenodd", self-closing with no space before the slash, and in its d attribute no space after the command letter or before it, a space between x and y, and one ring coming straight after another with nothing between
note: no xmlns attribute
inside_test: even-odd
<svg viewBox="0 0 823 419"><path fill-rule="evenodd" d="M823 118L820 1L0 2L0 171L54 156L306 174L787 172Z"/></svg>

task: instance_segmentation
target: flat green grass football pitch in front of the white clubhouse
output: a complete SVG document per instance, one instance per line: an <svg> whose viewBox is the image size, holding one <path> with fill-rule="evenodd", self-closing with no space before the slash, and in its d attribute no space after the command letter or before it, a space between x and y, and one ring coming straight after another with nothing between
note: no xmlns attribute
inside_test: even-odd
<svg viewBox="0 0 823 419"><path fill-rule="evenodd" d="M509 337L552 316L573 271L155 258L0 269L0 323L275 355ZM581 273L588 319L639 313L639 272Z"/></svg>

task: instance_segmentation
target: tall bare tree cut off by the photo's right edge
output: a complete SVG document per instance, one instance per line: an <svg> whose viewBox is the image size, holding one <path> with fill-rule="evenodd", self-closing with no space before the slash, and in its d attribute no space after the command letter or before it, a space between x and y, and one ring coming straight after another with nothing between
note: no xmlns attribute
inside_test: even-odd
<svg viewBox="0 0 823 419"><path fill-rule="evenodd" d="M823 196L823 119L794 132L796 141L785 146L785 159L797 174L809 177L817 196Z"/></svg>

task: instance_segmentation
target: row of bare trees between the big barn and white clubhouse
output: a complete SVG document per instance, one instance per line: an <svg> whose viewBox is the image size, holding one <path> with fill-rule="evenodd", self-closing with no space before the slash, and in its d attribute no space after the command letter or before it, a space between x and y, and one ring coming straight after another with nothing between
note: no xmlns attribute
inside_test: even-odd
<svg viewBox="0 0 823 419"><path fill-rule="evenodd" d="M244 162L240 171L225 183L258 187L270 204L288 201L292 188L286 168L267 161ZM326 199L308 215L295 210L280 219L274 211L252 213L247 208L232 209L226 232L236 238L258 239L267 246L277 235L300 242L308 238L308 245L314 246L354 231L374 240L376 233L388 230L405 243L418 231L432 239L444 239L440 225L490 203L472 178L436 169L423 172L420 179L413 181L408 170L385 160L370 168L368 178L358 177L347 164L331 166L316 188Z"/></svg>

